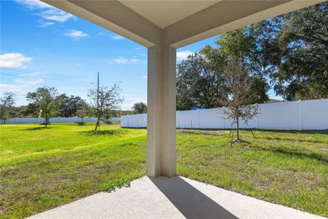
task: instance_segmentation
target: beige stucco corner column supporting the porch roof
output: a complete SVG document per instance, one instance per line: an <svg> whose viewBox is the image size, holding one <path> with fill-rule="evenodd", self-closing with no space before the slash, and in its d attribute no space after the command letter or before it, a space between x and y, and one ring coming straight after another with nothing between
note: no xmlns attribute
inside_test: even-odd
<svg viewBox="0 0 328 219"><path fill-rule="evenodd" d="M176 175L176 49L148 48L147 175Z"/></svg>

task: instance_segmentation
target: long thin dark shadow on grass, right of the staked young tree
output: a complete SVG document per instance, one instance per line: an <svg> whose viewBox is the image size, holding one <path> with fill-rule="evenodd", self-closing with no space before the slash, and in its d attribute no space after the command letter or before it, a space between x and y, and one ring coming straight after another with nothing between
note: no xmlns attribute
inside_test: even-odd
<svg viewBox="0 0 328 219"><path fill-rule="evenodd" d="M319 153L302 153L299 151L291 151L288 149L282 149L282 148L274 148L274 147L270 147L270 148L263 148L261 146L255 146L252 145L251 147L255 147L257 149L260 149L262 151L271 151L273 153L280 153L280 154L284 154L284 155L288 155L291 157L298 157L298 158L310 158L310 159L316 159L318 160L318 162L323 162L325 164L328 164L328 158L325 157L324 155L320 155Z"/></svg>

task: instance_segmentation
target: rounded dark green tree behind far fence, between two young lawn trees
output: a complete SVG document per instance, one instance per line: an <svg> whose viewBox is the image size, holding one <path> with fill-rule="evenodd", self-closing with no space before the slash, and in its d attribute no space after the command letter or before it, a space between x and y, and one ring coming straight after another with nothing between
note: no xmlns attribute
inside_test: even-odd
<svg viewBox="0 0 328 219"><path fill-rule="evenodd" d="M57 115L62 117L74 116L81 105L85 104L80 96L67 96L66 94L56 96L55 101L57 103Z"/></svg>

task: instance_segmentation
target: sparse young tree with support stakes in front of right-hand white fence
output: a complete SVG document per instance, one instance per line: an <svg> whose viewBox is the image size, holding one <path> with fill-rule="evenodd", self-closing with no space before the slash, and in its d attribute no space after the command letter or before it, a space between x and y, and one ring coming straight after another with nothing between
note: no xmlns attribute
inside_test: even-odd
<svg viewBox="0 0 328 219"><path fill-rule="evenodd" d="M232 143L243 142L239 136L239 124L241 120L247 123L248 120L258 114L257 106L254 105L254 101L258 99L258 93L254 92L254 86L259 83L259 79L258 77L249 76L243 62L233 57L228 59L222 73L227 89L225 98L222 99L222 105L226 108L222 108L222 112L225 114L226 119L232 121L232 126L236 124L236 140ZM262 91L264 95L268 89L264 88Z"/></svg>

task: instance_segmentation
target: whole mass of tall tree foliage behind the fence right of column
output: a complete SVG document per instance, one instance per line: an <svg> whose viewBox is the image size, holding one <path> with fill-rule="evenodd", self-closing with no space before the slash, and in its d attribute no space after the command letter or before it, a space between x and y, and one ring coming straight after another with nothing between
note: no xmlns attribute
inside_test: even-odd
<svg viewBox="0 0 328 219"><path fill-rule="evenodd" d="M328 2L228 31L177 66L177 109L220 107L223 68L240 60L253 80L254 103L328 98Z"/></svg>

